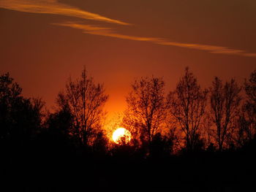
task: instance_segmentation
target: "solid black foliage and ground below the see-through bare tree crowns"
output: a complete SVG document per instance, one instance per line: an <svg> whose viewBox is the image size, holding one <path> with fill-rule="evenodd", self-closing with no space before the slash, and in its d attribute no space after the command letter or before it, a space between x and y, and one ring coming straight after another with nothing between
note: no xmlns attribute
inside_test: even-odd
<svg viewBox="0 0 256 192"><path fill-rule="evenodd" d="M255 133L255 112L252 107L246 107L246 104L255 107L253 83L253 80L246 82L249 92L246 92L248 98L242 108L244 121L241 122ZM151 135L148 147L141 145L137 138L127 142L125 137L119 144L110 144L104 131L97 131L91 137L93 144L81 147L78 137L70 131L74 128L74 115L69 106L63 105L48 115L42 112L43 106L41 99L24 98L20 86L9 74L1 75L0 191L256 189L256 138L253 134L246 136L242 145L235 138L233 147L217 150L216 143L209 142L206 146L196 128L193 150L183 147L184 150L173 153L176 139L173 136L156 132ZM241 130L241 124L237 125L238 132L234 133ZM245 131L243 135L248 133L251 132Z"/></svg>

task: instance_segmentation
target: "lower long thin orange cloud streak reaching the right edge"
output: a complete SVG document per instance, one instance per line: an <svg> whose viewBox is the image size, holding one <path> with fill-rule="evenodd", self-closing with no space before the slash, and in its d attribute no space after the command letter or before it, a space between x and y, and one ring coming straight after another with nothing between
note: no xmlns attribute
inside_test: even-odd
<svg viewBox="0 0 256 192"><path fill-rule="evenodd" d="M246 57L256 57L256 53L247 53L245 50L236 50L229 47L214 46L214 45L201 45L201 44L187 44L181 42L173 42L167 39L154 38L154 37L136 37L124 34L118 34L111 28L102 28L97 26L89 26L83 23L67 22L67 23L53 23L58 26L67 26L83 30L85 34L101 35L105 37L116 37L118 39L129 39L134 41L151 42L157 45L168 45L176 47L184 47L195 50L205 50L209 53L227 54L227 55L241 55Z"/></svg>

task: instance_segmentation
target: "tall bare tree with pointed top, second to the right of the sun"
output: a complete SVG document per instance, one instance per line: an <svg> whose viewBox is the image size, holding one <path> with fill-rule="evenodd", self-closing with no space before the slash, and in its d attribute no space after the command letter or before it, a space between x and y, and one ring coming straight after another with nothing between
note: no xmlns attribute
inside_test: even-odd
<svg viewBox="0 0 256 192"><path fill-rule="evenodd" d="M170 91L167 96L167 111L178 128L181 128L187 150L194 150L197 145L207 92L200 88L195 76L186 68L176 90Z"/></svg>

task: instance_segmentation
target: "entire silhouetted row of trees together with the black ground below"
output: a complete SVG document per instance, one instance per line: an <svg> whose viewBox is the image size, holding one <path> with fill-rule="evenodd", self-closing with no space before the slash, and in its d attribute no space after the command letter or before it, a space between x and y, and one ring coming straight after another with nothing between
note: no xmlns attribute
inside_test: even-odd
<svg viewBox="0 0 256 192"><path fill-rule="evenodd" d="M201 88L187 68L168 92L162 77L135 80L118 123L132 134L130 142L108 139L107 101L86 69L67 80L54 111L42 99L24 97L10 74L2 74L1 188L255 190L256 70L244 85L215 77Z"/></svg>

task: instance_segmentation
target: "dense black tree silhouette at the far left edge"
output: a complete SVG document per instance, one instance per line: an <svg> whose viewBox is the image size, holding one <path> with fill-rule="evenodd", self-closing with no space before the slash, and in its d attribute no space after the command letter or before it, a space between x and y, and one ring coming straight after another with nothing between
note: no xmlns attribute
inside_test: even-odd
<svg viewBox="0 0 256 192"><path fill-rule="evenodd" d="M42 99L26 99L22 89L10 74L0 76L0 139L8 145L34 137L42 126Z"/></svg>

